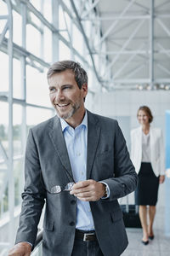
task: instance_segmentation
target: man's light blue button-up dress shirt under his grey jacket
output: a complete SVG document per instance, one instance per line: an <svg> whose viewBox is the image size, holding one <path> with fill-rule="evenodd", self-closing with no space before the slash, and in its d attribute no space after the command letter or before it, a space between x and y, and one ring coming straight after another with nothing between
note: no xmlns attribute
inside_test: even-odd
<svg viewBox="0 0 170 256"><path fill-rule="evenodd" d="M75 129L60 119L65 137L66 148L71 162L71 170L75 182L86 180L87 143L88 143L88 113L86 111L82 123ZM88 201L77 199L77 230L94 230L94 219Z"/></svg>

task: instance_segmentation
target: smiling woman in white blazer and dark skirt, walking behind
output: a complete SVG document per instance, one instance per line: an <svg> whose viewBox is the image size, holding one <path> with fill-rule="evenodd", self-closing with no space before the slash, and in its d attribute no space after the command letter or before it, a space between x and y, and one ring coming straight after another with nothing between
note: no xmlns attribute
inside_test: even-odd
<svg viewBox="0 0 170 256"><path fill-rule="evenodd" d="M137 113L140 127L131 131L131 160L139 176L135 202L143 228L142 243L154 239L153 222L156 214L158 187L164 182L165 160L161 129L150 127L153 120L150 108L142 106ZM149 224L147 224L149 206Z"/></svg>

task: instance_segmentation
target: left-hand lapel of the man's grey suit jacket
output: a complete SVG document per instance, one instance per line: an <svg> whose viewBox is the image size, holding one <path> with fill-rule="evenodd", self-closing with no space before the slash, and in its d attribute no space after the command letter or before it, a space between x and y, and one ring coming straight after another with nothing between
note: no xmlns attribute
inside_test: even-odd
<svg viewBox="0 0 170 256"><path fill-rule="evenodd" d="M61 129L60 121L57 116L54 117L54 124L52 125L52 129L49 131L49 137L54 144L54 148L59 156L61 164L65 168L67 177L72 182L74 179L71 171L71 163L66 149L65 139Z"/></svg>

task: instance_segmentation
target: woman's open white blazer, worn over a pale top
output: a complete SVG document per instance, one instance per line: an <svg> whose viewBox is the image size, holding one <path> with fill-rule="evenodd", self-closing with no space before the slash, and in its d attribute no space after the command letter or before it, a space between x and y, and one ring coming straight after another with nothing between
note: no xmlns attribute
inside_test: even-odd
<svg viewBox="0 0 170 256"><path fill-rule="evenodd" d="M164 151L161 129L150 127L150 163L156 177L165 174ZM142 126L131 131L131 160L139 173L142 161Z"/></svg>

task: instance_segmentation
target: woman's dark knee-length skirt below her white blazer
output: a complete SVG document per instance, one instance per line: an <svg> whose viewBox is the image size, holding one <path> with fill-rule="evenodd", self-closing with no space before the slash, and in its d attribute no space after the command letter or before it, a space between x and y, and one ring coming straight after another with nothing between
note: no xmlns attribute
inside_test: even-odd
<svg viewBox="0 0 170 256"><path fill-rule="evenodd" d="M150 163L141 163L139 183L135 190L135 203L139 206L156 206L159 177L156 177Z"/></svg>

